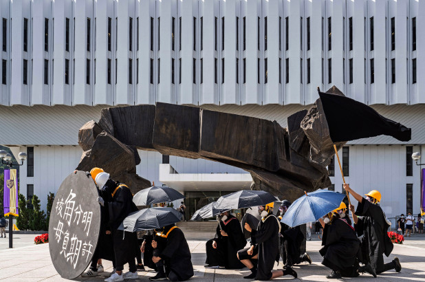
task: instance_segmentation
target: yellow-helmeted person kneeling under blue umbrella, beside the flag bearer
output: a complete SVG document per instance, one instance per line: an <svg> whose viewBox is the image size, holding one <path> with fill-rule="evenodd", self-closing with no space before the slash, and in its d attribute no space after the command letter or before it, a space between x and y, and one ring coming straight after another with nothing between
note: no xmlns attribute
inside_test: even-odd
<svg viewBox="0 0 425 282"><path fill-rule="evenodd" d="M339 208L325 215L325 219L319 219L323 226L323 248L319 251L323 257L322 264L332 270L326 278L357 277L359 272L368 272L376 277L370 264L363 268L359 267L357 256L360 241L351 226L351 221L340 217L346 208L342 202ZM338 213L339 211L341 213Z"/></svg>

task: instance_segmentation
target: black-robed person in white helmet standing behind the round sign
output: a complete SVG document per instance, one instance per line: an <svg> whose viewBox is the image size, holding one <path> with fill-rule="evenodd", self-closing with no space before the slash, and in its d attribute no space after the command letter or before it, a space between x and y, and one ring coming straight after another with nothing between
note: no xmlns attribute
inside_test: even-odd
<svg viewBox="0 0 425 282"><path fill-rule="evenodd" d="M96 176L96 184L100 188L98 202L103 206L108 202L109 227L112 232L113 252L115 254L116 273L105 279L107 282L122 281L122 279L137 279L138 272L135 265L136 248L138 248L138 237L135 232L124 232L118 230L122 221L138 210L133 203L133 195L125 184L109 179L108 173L99 173ZM129 272L122 274L124 264L129 263Z"/></svg>

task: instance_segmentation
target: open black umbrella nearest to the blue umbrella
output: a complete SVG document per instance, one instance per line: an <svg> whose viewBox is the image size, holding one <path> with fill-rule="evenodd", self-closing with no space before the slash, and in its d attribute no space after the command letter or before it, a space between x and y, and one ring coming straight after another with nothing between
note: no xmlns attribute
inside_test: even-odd
<svg viewBox="0 0 425 282"><path fill-rule="evenodd" d="M249 208L250 206L265 206L277 199L274 195L257 190L241 190L217 199L215 208L220 210L236 210L237 208Z"/></svg>

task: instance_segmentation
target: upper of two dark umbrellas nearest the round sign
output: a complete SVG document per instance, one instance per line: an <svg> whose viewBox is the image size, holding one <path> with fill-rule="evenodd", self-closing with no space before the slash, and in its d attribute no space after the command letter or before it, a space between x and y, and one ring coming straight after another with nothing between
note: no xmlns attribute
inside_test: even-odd
<svg viewBox="0 0 425 282"><path fill-rule="evenodd" d="M173 202L184 199L184 195L166 186L152 186L135 193L133 202L136 206L150 206L151 204Z"/></svg>

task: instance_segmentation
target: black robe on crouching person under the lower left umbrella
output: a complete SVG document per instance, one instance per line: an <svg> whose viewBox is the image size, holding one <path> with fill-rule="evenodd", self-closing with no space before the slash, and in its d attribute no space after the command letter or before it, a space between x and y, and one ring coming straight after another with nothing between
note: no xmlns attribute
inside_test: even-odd
<svg viewBox="0 0 425 282"><path fill-rule="evenodd" d="M171 228L173 226L166 226L164 234ZM190 261L192 256L188 242L179 228L174 228L168 233L166 246L160 257L164 259L166 275L170 281L186 281L193 276L193 265Z"/></svg>

